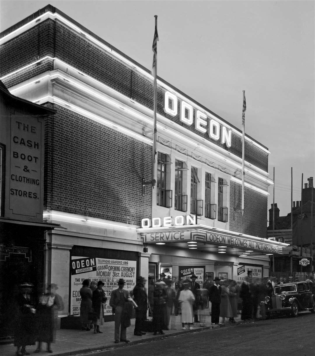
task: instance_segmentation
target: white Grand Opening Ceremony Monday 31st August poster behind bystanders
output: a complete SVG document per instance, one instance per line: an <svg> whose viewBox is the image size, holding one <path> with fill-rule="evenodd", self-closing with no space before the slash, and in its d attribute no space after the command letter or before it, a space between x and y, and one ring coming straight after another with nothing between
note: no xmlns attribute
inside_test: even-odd
<svg viewBox="0 0 315 356"><path fill-rule="evenodd" d="M118 279L125 279L125 289L129 294L136 285L137 261L117 260L100 257L71 257L71 298L70 315L80 315L80 289L84 279L90 282L103 281L103 290L107 297L104 315L112 315L109 305L111 292L118 288Z"/></svg>

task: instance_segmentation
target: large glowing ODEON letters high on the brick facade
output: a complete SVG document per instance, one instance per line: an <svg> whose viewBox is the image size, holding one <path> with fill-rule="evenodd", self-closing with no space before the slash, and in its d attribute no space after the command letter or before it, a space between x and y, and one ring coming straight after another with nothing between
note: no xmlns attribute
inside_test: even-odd
<svg viewBox="0 0 315 356"><path fill-rule="evenodd" d="M163 110L171 116L177 115L177 96L166 91L164 93L164 105ZM186 101L182 100L180 104L179 120L184 124L191 126L193 124L193 107ZM208 131L208 135L214 141L220 139L220 124L213 118L208 118L204 112L196 109L195 115L195 129L199 132L205 133ZM225 143L227 147L231 147L231 130L228 130L225 126L222 126L221 143Z"/></svg>

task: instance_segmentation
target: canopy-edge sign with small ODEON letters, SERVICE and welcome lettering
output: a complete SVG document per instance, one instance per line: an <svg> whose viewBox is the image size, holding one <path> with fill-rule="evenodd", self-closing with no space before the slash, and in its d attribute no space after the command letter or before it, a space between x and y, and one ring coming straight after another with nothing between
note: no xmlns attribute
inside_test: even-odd
<svg viewBox="0 0 315 356"><path fill-rule="evenodd" d="M282 253L282 246L275 246L269 240L254 241L246 237L231 236L230 234L220 234L218 232L204 231L204 226L194 227L194 230L176 229L184 225L197 225L196 215L165 216L164 218L145 218L141 221L142 229L169 227L169 231L152 231L141 234L143 242L171 242L171 241L204 241L210 244L224 244L230 247L246 248L265 253ZM211 227L209 227L211 230Z"/></svg>

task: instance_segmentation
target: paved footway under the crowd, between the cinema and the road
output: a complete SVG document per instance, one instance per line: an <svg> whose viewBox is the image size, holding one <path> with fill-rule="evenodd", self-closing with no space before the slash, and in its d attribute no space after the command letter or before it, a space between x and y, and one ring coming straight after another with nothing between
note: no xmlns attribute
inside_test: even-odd
<svg viewBox="0 0 315 356"><path fill-rule="evenodd" d="M206 310L206 309L205 309ZM210 313L207 312L208 315L205 315L205 325L200 326L200 323L196 323L192 325L193 330L183 330L181 323L180 315L171 315L171 328L169 330L164 330L165 335L153 335L153 333L146 333L143 336L135 336L133 335L134 323L135 319L131 319L131 326L127 328L127 339L130 342L119 342L118 344L114 343L114 321L108 321L104 325L100 326L100 330L103 332L102 334L94 334L93 329L91 331L82 331L82 330L73 330L73 329L57 329L56 330L56 339L55 342L51 344L51 349L53 352L49 354L46 351L47 344L45 342L42 343L42 351L34 354L36 349L35 345L26 346L26 351L31 355L82 355L88 352L93 351L101 351L101 350L110 350L116 349L117 347L124 347L127 345L141 344L143 342L149 342L154 340L161 340L167 337L174 337L177 335L183 335L186 333L195 333L203 330L212 330L222 327L234 326L238 324L244 323L241 320L241 315L239 314L237 318L235 318L236 323L224 323L222 325L211 325L211 316ZM152 318L148 318L152 319ZM225 319L227 320L227 319ZM222 318L220 318L222 321ZM187 325L186 325L187 328ZM0 345L0 355L1 356L14 356L16 352L16 347L14 344L5 344Z"/></svg>

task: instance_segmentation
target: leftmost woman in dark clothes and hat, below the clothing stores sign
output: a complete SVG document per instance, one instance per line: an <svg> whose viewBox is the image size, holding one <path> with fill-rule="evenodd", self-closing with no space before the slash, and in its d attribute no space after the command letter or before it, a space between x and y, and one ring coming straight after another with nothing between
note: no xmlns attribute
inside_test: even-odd
<svg viewBox="0 0 315 356"><path fill-rule="evenodd" d="M18 312L15 320L14 346L17 347L16 355L29 355L26 345L35 344L35 299L32 295L33 285L22 283L20 292L16 296Z"/></svg>

